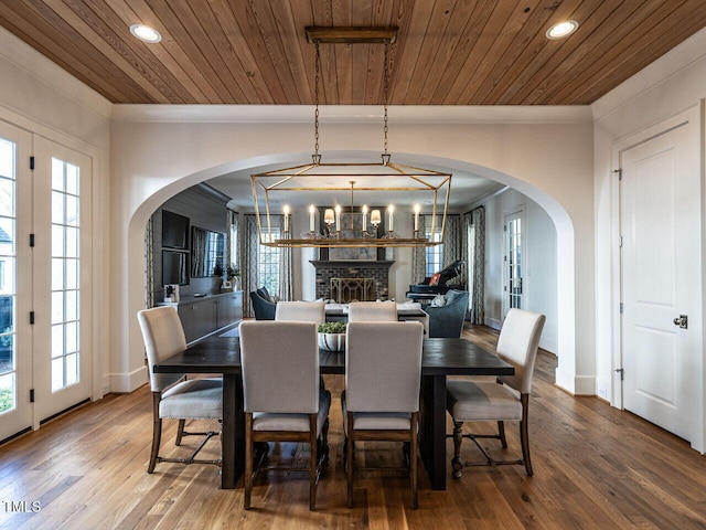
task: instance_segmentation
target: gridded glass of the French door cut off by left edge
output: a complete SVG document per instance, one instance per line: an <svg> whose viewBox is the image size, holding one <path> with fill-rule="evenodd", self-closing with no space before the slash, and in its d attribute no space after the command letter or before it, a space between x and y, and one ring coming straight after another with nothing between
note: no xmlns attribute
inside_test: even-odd
<svg viewBox="0 0 706 530"><path fill-rule="evenodd" d="M0 138L0 413L17 406L15 144Z"/></svg>

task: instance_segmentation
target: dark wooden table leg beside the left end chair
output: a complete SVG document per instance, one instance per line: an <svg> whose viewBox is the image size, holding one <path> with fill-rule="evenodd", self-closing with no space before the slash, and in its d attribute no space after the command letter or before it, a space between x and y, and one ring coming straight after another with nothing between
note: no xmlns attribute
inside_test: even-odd
<svg viewBox="0 0 706 530"><path fill-rule="evenodd" d="M235 373L223 375L223 435L221 487L234 489L245 469L245 413L243 380Z"/></svg>

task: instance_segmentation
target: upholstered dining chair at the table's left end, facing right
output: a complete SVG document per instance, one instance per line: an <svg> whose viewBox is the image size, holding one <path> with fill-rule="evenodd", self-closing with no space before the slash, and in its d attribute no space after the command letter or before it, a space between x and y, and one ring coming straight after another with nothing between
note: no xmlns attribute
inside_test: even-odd
<svg viewBox="0 0 706 530"><path fill-rule="evenodd" d="M138 321L142 330L147 361L150 370L150 388L152 391L152 451L147 473L153 473L158 462L180 464L215 464L221 459L196 459L199 452L218 431L188 432L186 420L223 418L223 380L192 379L183 373L154 373L152 368L160 360L167 359L186 349L186 338L176 309L172 306L154 307L138 311ZM159 456L162 437L162 420L179 420L175 445L181 445L184 436L204 436L205 438L188 458L167 458Z"/></svg>

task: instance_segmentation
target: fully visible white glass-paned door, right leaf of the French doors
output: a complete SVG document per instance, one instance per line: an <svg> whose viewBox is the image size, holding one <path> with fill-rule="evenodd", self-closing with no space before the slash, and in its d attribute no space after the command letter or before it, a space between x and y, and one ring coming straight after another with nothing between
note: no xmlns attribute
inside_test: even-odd
<svg viewBox="0 0 706 530"><path fill-rule="evenodd" d="M35 416L92 396L89 157L36 138Z"/></svg>

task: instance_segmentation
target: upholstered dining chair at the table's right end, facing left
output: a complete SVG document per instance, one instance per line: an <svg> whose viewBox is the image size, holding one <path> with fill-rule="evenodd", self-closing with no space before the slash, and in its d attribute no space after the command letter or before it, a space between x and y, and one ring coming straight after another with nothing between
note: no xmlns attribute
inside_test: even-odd
<svg viewBox="0 0 706 530"><path fill-rule="evenodd" d="M447 382L447 411L453 418L453 477L461 477L464 466L495 466L520 464L525 466L532 476L532 460L530 458L530 435L527 416L530 407L530 392L532 375L537 357L539 337L546 317L538 312L523 309L511 309L505 317L498 339L496 354L511 363L514 375L502 375L496 382L452 380ZM498 434L463 434L466 422L498 422ZM480 438L499 439L503 448L507 448L504 422L520 422L520 439L522 459L496 460L478 442ZM485 460L461 460L461 441L469 438L475 443Z"/></svg>

